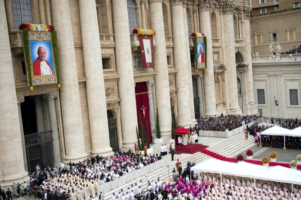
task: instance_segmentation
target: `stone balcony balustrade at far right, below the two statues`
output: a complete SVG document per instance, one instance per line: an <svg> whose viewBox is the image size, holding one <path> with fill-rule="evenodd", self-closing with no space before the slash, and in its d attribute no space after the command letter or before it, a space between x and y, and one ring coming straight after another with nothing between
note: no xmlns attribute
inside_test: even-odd
<svg viewBox="0 0 301 200"><path fill-rule="evenodd" d="M252 63L301 61L301 54L252 56Z"/></svg>

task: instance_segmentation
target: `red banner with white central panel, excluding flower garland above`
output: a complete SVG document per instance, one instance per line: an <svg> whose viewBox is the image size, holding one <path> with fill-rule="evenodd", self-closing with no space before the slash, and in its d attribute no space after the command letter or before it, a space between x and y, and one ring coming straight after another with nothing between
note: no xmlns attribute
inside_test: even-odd
<svg viewBox="0 0 301 200"><path fill-rule="evenodd" d="M154 44L153 35L139 35L142 68L153 68Z"/></svg>

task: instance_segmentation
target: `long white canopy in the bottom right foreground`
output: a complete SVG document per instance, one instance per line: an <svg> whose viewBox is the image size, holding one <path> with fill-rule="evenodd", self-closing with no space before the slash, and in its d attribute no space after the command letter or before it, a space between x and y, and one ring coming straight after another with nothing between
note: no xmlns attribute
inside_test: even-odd
<svg viewBox="0 0 301 200"><path fill-rule="evenodd" d="M233 163L211 158L196 164L191 170L301 184L301 171L284 166L266 167L248 162Z"/></svg>

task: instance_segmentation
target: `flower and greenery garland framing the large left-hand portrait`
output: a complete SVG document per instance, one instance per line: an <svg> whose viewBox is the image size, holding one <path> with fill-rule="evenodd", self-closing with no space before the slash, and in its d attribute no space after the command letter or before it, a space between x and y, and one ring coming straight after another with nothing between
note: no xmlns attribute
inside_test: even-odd
<svg viewBox="0 0 301 200"><path fill-rule="evenodd" d="M32 70L31 70L31 58L30 58L30 44L29 44L29 36L28 31L49 31L52 35L52 44L53 44L53 54L54 54L54 62L56 67L56 76L58 87L61 87L61 76L60 76L60 66L59 66L59 55L58 55L58 41L57 41L57 32L54 30L52 25L46 24L32 24L32 23L21 23L19 29L22 31L23 38L23 48L24 48L24 57L27 67L28 73L28 81L30 89L33 90L33 79L32 79Z"/></svg>

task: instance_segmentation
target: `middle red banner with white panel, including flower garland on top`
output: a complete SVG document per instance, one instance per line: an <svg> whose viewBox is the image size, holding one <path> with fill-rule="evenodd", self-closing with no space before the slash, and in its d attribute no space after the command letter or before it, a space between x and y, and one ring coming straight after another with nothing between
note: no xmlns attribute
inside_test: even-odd
<svg viewBox="0 0 301 200"><path fill-rule="evenodd" d="M140 51L142 59L142 68L153 68L154 65L154 43L153 35L156 31L153 29L133 29L134 34L139 34Z"/></svg>

